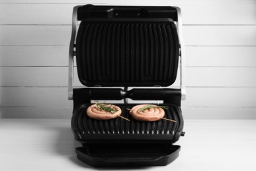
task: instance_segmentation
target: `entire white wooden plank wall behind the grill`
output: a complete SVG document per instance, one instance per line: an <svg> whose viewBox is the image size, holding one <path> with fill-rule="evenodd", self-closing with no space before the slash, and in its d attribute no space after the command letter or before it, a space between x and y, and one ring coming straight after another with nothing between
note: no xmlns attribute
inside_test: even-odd
<svg viewBox="0 0 256 171"><path fill-rule="evenodd" d="M0 0L2 118L71 118L67 57L75 5L181 7L185 119L256 119L255 0ZM75 82L75 85L81 85Z"/></svg>

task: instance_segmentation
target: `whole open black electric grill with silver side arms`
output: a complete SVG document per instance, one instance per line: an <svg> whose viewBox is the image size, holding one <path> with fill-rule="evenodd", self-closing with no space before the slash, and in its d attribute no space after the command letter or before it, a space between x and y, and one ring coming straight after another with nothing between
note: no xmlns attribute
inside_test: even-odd
<svg viewBox="0 0 256 171"><path fill-rule="evenodd" d="M181 26L177 7L74 7L68 94L73 100L71 128L81 142L81 147L75 149L79 160L95 167L157 166L167 165L179 156L181 147L173 143L185 134L181 113L181 100L185 99ZM73 86L74 57L83 88ZM171 88L178 69L181 87ZM165 118L177 122L135 120L126 109L138 104L128 103L128 99L161 101L157 105L169 107ZM118 101L114 105L130 122L119 117L89 118L86 109L92 100ZM122 100L124 103L120 103Z"/></svg>

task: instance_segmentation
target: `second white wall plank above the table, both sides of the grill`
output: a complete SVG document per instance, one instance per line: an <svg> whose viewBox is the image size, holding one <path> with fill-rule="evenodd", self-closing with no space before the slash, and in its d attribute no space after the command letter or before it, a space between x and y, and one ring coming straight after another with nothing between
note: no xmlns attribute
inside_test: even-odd
<svg viewBox="0 0 256 171"><path fill-rule="evenodd" d="M0 107L72 107L67 87L1 87ZM183 107L256 107L256 87L187 87Z"/></svg>

